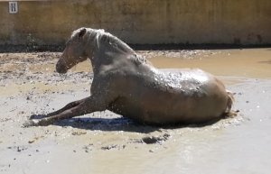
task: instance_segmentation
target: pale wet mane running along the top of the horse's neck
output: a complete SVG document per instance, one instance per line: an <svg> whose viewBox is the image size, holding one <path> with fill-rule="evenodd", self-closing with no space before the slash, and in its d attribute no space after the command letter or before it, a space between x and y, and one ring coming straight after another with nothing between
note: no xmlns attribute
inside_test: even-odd
<svg viewBox="0 0 271 174"><path fill-rule="evenodd" d="M78 30L72 32L71 37L75 36L79 33L83 28L79 28ZM137 63L150 63L148 60L145 59L144 56L138 55L135 53L135 50L131 49L124 41L121 41L116 36L109 32L105 32L104 29L91 29L86 28L86 36L88 40L92 41L99 48L101 41L107 41L112 44L117 44L117 46L122 50L130 50L132 53L135 54L135 62Z"/></svg>

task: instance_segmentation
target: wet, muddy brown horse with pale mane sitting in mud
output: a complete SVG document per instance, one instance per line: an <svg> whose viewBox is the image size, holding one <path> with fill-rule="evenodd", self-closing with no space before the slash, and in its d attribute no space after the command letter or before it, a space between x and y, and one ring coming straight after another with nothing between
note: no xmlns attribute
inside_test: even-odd
<svg viewBox="0 0 271 174"><path fill-rule="evenodd" d="M201 69L155 69L124 41L101 29L72 32L58 73L90 60L90 96L23 126L46 126L63 119L109 110L140 124L202 124L230 116L233 95L220 79Z"/></svg>

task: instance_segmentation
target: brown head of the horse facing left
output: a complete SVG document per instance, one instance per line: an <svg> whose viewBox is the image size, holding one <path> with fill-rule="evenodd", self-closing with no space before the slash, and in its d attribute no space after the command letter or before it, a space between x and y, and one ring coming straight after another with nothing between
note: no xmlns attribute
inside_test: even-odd
<svg viewBox="0 0 271 174"><path fill-rule="evenodd" d="M70 40L66 43L66 48L61 55L61 59L56 64L56 71L58 73L66 73L68 69L88 59L86 55L86 28L81 28L70 37Z"/></svg>

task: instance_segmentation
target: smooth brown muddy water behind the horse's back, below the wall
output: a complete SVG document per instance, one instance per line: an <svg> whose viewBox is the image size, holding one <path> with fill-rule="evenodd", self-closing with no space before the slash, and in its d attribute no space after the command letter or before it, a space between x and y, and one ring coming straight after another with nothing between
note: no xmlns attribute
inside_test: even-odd
<svg viewBox="0 0 271 174"><path fill-rule="evenodd" d="M197 68L216 76L271 78L271 49L201 50L188 59L157 56L149 60L160 69Z"/></svg>

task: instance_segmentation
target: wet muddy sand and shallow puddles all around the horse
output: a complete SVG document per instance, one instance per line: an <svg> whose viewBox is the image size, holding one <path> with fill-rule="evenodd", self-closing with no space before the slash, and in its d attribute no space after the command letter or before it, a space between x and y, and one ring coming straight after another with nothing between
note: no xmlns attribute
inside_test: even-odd
<svg viewBox="0 0 271 174"><path fill-rule="evenodd" d="M157 68L219 76L235 94L238 116L152 127L102 112L23 128L31 114L89 96L91 66L80 63L59 75L54 65L60 52L0 54L0 173L270 172L271 49L138 52Z"/></svg>

